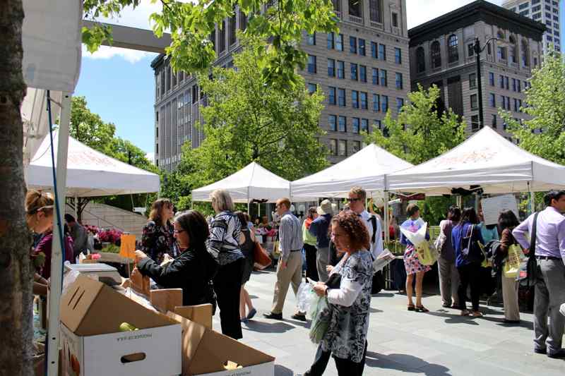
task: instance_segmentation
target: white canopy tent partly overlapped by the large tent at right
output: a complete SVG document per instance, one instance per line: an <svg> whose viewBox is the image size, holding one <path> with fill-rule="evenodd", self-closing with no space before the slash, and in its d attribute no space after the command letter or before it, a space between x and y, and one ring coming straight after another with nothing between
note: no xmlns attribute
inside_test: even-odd
<svg viewBox="0 0 565 376"><path fill-rule="evenodd" d="M353 186L374 194L386 190L387 174L414 166L375 144L316 174L290 183L292 196L345 198Z"/></svg>

